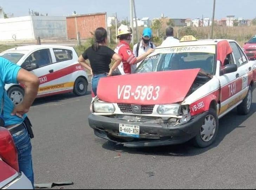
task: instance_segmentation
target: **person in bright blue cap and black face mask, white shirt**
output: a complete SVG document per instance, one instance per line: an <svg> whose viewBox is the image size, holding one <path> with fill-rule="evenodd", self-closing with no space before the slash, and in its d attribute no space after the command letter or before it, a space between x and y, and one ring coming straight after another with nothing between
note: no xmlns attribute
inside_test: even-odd
<svg viewBox="0 0 256 190"><path fill-rule="evenodd" d="M139 57L140 55L143 55L145 52L147 52L147 50L156 47L152 42L150 42L151 38L152 30L150 28L145 28L143 30L142 40L133 46L133 54L136 57ZM141 62L137 63L137 67L139 66L140 63Z"/></svg>

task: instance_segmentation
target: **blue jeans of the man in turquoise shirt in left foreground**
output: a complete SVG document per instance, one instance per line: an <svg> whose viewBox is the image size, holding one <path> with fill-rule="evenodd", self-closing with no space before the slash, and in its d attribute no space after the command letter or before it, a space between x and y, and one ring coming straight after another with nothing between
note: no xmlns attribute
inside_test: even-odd
<svg viewBox="0 0 256 190"><path fill-rule="evenodd" d="M18 152L19 169L31 181L34 186L34 172L32 164L32 146L27 129L23 129L12 135Z"/></svg>

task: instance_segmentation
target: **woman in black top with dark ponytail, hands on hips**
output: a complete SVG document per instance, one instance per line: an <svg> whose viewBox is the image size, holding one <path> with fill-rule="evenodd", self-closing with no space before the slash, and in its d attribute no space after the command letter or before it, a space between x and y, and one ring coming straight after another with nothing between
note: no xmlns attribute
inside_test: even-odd
<svg viewBox="0 0 256 190"><path fill-rule="evenodd" d="M97 28L95 31L95 43L87 48L85 52L79 57L79 63L86 69L91 71L92 77L92 91L97 95L97 86L100 78L111 76L121 63L122 58L112 49L107 47L107 31L104 28ZM85 60L90 61L90 65ZM113 59L114 65L109 68Z"/></svg>

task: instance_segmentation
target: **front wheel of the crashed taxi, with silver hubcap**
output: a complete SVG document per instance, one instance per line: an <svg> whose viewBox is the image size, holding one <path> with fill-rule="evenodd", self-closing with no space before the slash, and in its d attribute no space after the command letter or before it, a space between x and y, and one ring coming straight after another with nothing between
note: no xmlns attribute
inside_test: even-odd
<svg viewBox="0 0 256 190"><path fill-rule="evenodd" d="M193 145L198 148L209 147L215 141L218 134L218 129L218 116L216 114L216 111L210 108L204 118L203 125L198 131L198 134L192 139ZM205 133L205 135L203 135L203 133Z"/></svg>

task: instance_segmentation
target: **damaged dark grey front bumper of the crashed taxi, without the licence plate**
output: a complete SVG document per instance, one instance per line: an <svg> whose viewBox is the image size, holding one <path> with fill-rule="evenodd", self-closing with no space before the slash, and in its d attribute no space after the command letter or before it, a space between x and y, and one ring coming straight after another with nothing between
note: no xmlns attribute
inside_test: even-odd
<svg viewBox="0 0 256 190"><path fill-rule="evenodd" d="M139 138L119 134L119 124L131 124L131 122L93 114L88 117L88 120L90 127L94 129L94 134L100 138L125 147L156 147L182 144L191 140L199 133L206 114L206 112L199 114L188 123L175 127L163 127L157 123L132 122L133 125L140 126Z"/></svg>

